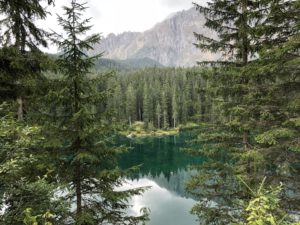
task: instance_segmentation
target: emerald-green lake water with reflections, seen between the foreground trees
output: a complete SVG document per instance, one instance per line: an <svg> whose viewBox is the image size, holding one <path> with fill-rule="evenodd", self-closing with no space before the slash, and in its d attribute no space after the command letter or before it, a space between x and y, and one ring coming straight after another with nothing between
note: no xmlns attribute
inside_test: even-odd
<svg viewBox="0 0 300 225"><path fill-rule="evenodd" d="M131 200L131 213L139 214L140 208L150 208L149 225L196 225L196 217L190 210L196 201L185 191L185 182L194 173L189 165L201 163L201 159L182 152L189 133L161 138L124 139L131 147L120 159L122 168L141 165L132 174L125 188L151 186L142 196Z"/></svg>

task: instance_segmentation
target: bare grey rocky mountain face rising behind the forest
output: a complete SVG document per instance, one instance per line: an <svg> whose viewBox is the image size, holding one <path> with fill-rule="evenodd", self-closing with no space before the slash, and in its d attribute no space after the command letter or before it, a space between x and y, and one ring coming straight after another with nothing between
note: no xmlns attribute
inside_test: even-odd
<svg viewBox="0 0 300 225"><path fill-rule="evenodd" d="M204 16L191 8L172 14L145 32L109 34L94 51L104 51L109 59L150 58L164 66L193 66L197 61L219 58L193 45L194 32L216 37L204 23Z"/></svg>

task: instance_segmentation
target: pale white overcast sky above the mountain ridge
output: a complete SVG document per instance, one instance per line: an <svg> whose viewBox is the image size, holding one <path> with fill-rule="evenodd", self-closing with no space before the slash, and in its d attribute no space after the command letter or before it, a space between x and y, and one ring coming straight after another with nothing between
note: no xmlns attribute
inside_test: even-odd
<svg viewBox="0 0 300 225"><path fill-rule="evenodd" d="M78 0L84 2L84 0ZM40 26L60 31L56 14L62 14L62 6L70 5L71 0L56 0L55 7L48 7L52 14ZM92 17L92 32L107 36L124 31L145 31L165 19L173 12L191 8L192 0L87 0L87 17ZM204 4L206 0L195 0ZM48 51L55 51L50 47Z"/></svg>

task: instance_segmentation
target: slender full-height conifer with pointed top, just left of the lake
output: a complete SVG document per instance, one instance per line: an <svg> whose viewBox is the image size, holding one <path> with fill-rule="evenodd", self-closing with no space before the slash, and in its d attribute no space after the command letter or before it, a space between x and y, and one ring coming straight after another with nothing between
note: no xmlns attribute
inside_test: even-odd
<svg viewBox="0 0 300 225"><path fill-rule="evenodd" d="M86 3L72 0L70 7L64 7L64 17L58 17L66 37L54 34L54 41L62 52L58 65L63 74L62 80L56 82L64 85L49 98L58 96L52 99L63 113L51 124L55 132L49 148L56 151L53 160L58 161L55 171L59 182L64 184L62 190L68 190L63 198L70 204L75 201L75 212L69 209L72 223L138 224L144 215L128 216L126 208L128 198L140 194L142 189L116 190L122 185L124 175L115 166L115 156L121 150L110 143L112 124L101 112L93 110L96 104L105 102L110 93L99 92L95 87L98 78L88 77L94 60L101 54L86 55L100 36L84 37L91 29L90 19L82 19L85 10Z"/></svg>

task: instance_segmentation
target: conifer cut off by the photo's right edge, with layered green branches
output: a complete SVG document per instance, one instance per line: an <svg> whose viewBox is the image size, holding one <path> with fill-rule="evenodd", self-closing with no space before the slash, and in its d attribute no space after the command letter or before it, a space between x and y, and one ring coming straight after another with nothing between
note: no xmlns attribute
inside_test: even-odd
<svg viewBox="0 0 300 225"><path fill-rule="evenodd" d="M260 79L255 87L256 108L255 148L264 155L268 170L267 182L283 182L281 205L287 211L298 211L298 197L287 192L298 193L299 168L299 1L282 2L285 7L274 7L267 21L270 27L282 27L283 34L276 45L262 49L260 59L252 66L252 76ZM280 6L282 6L280 5ZM287 34L287 36L286 36ZM254 72L253 72L254 71Z"/></svg>

